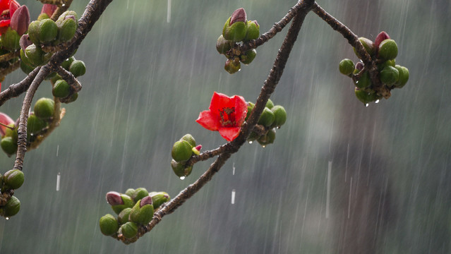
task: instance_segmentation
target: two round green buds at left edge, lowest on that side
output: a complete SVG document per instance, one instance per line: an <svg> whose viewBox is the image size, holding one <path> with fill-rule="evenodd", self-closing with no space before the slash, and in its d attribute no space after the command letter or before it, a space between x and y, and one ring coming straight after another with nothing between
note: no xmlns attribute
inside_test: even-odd
<svg viewBox="0 0 451 254"><path fill-rule="evenodd" d="M5 193L8 190L16 190L22 186L24 181L23 172L18 169L7 171L3 176L0 175L0 190ZM20 210L20 201L15 196L6 201L4 205L0 205L0 216L11 217L16 215Z"/></svg>

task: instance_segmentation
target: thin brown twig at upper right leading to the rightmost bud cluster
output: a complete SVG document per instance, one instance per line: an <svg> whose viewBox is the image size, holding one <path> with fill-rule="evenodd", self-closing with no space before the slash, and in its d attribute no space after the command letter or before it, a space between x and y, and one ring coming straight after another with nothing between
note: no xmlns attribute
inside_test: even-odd
<svg viewBox="0 0 451 254"><path fill-rule="evenodd" d="M332 15L327 13L323 8L321 8L316 2L313 5L312 11L316 13L320 18L322 18L333 30L336 30L343 37L348 40L349 44L356 49L356 52L361 56L361 60L365 64L365 68L370 74L371 83L373 84L373 89L382 95L385 99L390 97L390 90L380 82L378 67L375 61L371 59L371 56L366 52L365 48L359 41L359 37L354 34L346 25L339 22Z"/></svg>

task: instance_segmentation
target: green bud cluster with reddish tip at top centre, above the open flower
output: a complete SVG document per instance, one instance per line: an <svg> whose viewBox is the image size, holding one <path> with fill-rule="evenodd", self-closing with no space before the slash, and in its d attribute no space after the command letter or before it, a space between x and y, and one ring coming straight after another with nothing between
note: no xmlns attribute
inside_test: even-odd
<svg viewBox="0 0 451 254"><path fill-rule="evenodd" d="M241 42L255 40L258 36L260 36L260 25L257 20L247 20L246 11L243 8L239 8L231 14L224 24L222 35L217 38L216 42L217 52L227 57L224 69L228 73L236 73L240 70L241 63L248 65L255 59L257 55L255 49L241 52L239 47Z"/></svg>

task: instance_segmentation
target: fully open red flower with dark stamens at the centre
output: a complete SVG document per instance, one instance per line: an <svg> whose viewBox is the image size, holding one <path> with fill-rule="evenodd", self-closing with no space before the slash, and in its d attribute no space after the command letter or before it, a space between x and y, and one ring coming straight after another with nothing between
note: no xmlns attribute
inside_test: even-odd
<svg viewBox="0 0 451 254"><path fill-rule="evenodd" d="M228 97L215 92L208 109L210 110L200 112L196 122L210 131L219 131L222 138L227 141L238 137L248 112L243 97L239 95Z"/></svg>

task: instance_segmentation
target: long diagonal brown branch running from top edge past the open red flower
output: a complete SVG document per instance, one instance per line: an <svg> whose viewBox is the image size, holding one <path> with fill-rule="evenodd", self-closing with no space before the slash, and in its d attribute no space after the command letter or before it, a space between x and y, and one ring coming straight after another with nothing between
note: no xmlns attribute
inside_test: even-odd
<svg viewBox="0 0 451 254"><path fill-rule="evenodd" d="M138 240L140 236L143 236L143 234L152 230L153 227L162 220L162 217L164 217L164 215L174 212L177 207L182 205L188 198L191 198L191 196L197 193L200 188L205 186L205 183L208 183L208 181L212 179L212 176L221 169L227 159L229 159L229 157L233 153L237 152L239 148L246 142L248 135L251 133L251 131L253 131L253 128L260 118L260 114L262 114L263 109L265 109L267 100L270 98L270 95L272 94L272 92L274 92L275 87L279 83L291 49L293 48L294 42L296 42L296 38L299 35L299 30L301 30L303 20L306 17L307 13L311 11L313 3L313 0L304 0L296 4L295 7L291 8L290 11L292 11L292 16L294 16L293 22L291 23L282 47L280 47L279 49L270 74L265 80L260 95L258 96L257 102L255 103L255 107L251 112L251 116L249 116L248 121L243 124L239 136L230 143L227 143L226 145L218 148L218 151L220 151L221 153L215 160L215 162L210 165L210 168L205 171L205 173L200 176L200 178L196 182L181 191L179 195L177 195L174 199L162 205L160 209L155 212L152 221L148 225L140 226L140 228L138 229L138 236L136 238L127 239L122 234L114 235L113 237L118 238L124 243L131 243ZM259 39L257 39L257 41ZM200 157L202 157L202 154L200 155Z"/></svg>

